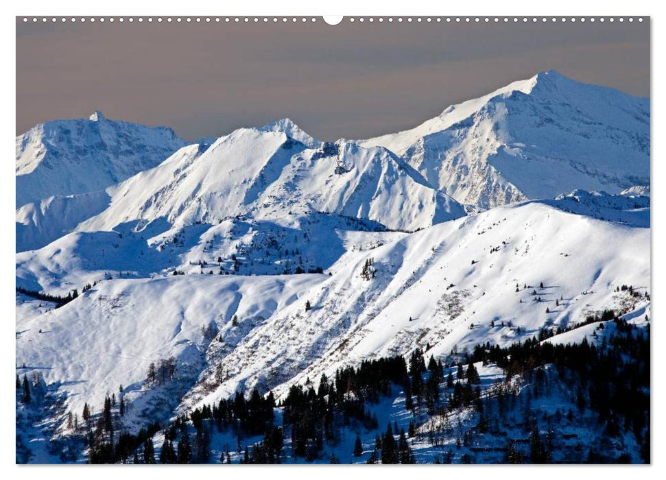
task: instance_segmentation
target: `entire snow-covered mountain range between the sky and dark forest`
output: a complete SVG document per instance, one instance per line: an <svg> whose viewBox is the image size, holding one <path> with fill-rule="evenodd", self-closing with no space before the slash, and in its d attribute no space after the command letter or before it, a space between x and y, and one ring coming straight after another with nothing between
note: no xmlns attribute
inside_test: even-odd
<svg viewBox="0 0 666 480"><path fill-rule="evenodd" d="M16 139L16 370L50 407L21 400L17 455L81 458L68 414L96 416L109 392L126 408L117 431L136 433L367 359L457 362L558 328L552 344L610 341L622 327L595 316L608 310L644 328L649 123L649 101L551 71L366 141L319 141L289 119L191 145L98 112L38 125ZM148 381L150 365L169 379ZM503 370L477 366L490 398ZM433 461L428 424L446 419L389 393L381 421L420 422ZM219 458L236 440L216 435Z"/></svg>

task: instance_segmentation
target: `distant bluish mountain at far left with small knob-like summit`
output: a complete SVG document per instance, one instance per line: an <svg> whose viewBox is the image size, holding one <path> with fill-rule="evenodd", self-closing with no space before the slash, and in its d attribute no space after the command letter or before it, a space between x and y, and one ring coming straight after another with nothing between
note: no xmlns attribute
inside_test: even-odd
<svg viewBox="0 0 666 480"><path fill-rule="evenodd" d="M105 189L155 167L183 145L170 128L112 121L101 112L36 125L16 137L16 208Z"/></svg>

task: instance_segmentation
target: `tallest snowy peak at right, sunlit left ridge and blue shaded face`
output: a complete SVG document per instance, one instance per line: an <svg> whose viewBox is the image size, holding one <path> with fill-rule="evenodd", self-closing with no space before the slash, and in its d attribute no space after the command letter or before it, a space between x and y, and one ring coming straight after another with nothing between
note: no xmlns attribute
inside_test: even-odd
<svg viewBox="0 0 666 480"><path fill-rule="evenodd" d="M556 71L447 108L383 145L468 209L650 182L650 100Z"/></svg>

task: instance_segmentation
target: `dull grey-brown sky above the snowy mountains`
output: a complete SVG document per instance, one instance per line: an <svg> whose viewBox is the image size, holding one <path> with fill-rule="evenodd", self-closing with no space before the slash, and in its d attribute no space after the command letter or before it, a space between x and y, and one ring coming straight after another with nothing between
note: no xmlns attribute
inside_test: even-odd
<svg viewBox="0 0 666 480"><path fill-rule="evenodd" d="M185 139L289 117L324 140L413 127L538 71L650 95L642 23L16 21L16 134L50 119Z"/></svg>

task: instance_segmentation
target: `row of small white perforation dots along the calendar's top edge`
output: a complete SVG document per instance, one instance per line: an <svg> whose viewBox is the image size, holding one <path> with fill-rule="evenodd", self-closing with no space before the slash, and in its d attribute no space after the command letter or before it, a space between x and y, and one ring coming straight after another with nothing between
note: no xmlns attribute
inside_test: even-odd
<svg viewBox="0 0 666 480"><path fill-rule="evenodd" d="M183 22L185 22L185 23L221 23L221 22L224 22L224 23L260 23L260 22L263 22L263 23L268 23L268 22L288 23L288 22L291 22L291 23L297 23L297 22L300 22L300 23L308 23L308 22L312 22L313 23L313 22L316 22L317 19L315 17L305 17L305 16L302 16L302 17L296 17L296 16L291 16L291 17L287 17L287 16L281 16L281 17L277 17L277 16L273 16L273 17L267 17L267 16L263 16L263 17L259 17L259 16L224 16L224 17L220 17L220 16L175 16L175 17L171 17L171 16L167 16L167 17L162 17L162 16L156 16L156 17L152 17L152 16L147 16L147 17L143 17L143 16L138 16L138 17L132 17L132 16L129 16L129 17L123 17L123 16L119 16L119 17L112 17L112 16L111 17L103 17L103 16L102 17L94 17L94 16L91 16L91 17L86 17L86 16L81 16L81 17L74 17L74 16L72 16L72 17L64 17L64 16L62 16L62 17L55 17L55 16L46 17L46 16L40 16L40 17L38 17L38 16L33 16L33 17L27 17L27 16L24 16L23 17L23 23L29 23L31 21L32 21L32 23L38 23L38 22L42 22L42 23L46 23L46 22L51 22L51 23L56 23L56 22L61 22L61 23L64 23L64 22L80 22L80 23L86 23L86 22L89 22L89 23L95 23L95 22L99 22L99 23L105 23L105 22L108 22L108 23L114 23L114 22L119 22L119 23L123 23L123 22L129 22L129 23L134 23L134 22L139 22L139 23L143 23L143 22L148 22L148 23L152 23L152 22L157 22L157 23L162 23L162 22L166 22L166 23L172 23L172 22L176 22L176 23L183 23ZM370 16L370 17L364 17L364 16L360 16L360 17L354 17L354 16L351 16L351 17L344 18L343 21L348 21L350 23L355 23L355 22L364 23L366 21L369 22L369 23L374 23L374 22L379 22L379 23L384 23L384 22L388 22L388 23L395 23L395 22L397 22L397 23L405 23L405 22L406 23L413 23L413 22L416 22L416 23L423 23L423 22L425 22L425 23L442 23L442 22L444 22L444 23L451 23L451 22L454 22L454 23L491 23L491 22L492 23L528 23L528 22L532 22L532 23L537 23L537 22L541 22L541 23L548 23L548 22L549 23L557 23L557 22L560 22L560 23L567 23L567 22L571 22L571 23L577 23L577 22L580 22L580 23L585 23L585 22L604 23L604 22L610 22L610 23L614 23L614 22L617 21L619 23L623 23L625 21L628 21L628 22L634 22L634 21L642 22L643 17L639 16L639 17L634 18L632 16L629 16L629 17L623 17L623 16L619 16L619 17L613 17L613 16L610 16L610 17L604 17L604 16L599 16L599 17L594 17L594 16L590 16L590 17L587 17L587 16L569 16L569 17L565 17L565 16L562 16L562 17L554 17L554 16L553 17L546 17L546 16L529 16L529 17L528 16L512 16L512 17L509 17L509 16L493 16L493 17L488 17L488 16L464 16L464 17L461 17L461 16L453 16L453 17L451 17L451 16L447 16L447 17L440 17L440 16L437 16L437 17L431 17L431 16L427 16L427 17L421 17L421 16L402 17L402 16L397 16L397 17L392 17L392 16L389 16L389 17L381 17L380 16L380 17L372 17L372 16Z"/></svg>

